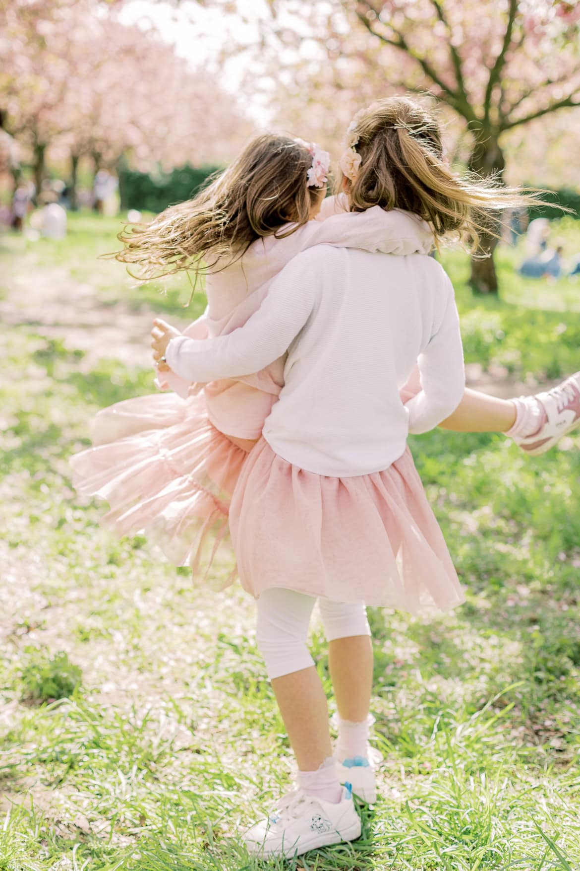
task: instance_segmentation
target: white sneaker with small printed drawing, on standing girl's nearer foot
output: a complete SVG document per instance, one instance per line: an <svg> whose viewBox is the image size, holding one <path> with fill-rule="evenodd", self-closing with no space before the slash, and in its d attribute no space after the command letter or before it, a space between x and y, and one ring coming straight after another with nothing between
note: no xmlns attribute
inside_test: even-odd
<svg viewBox="0 0 580 871"><path fill-rule="evenodd" d="M269 817L255 823L242 837L251 855L291 858L317 847L354 841L360 834L361 820L350 784L346 784L336 804L293 789L282 796Z"/></svg>

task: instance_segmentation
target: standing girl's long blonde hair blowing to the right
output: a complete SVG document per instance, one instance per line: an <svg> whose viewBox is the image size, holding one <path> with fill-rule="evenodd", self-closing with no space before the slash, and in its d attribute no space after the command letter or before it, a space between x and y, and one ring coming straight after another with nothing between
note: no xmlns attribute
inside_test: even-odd
<svg viewBox="0 0 580 871"><path fill-rule="evenodd" d="M436 242L453 237L474 252L481 233L499 238L503 212L543 204L540 192L503 186L497 177L452 172L443 159L437 114L417 98L385 98L357 112L346 145L351 151L344 165L359 162L349 172L353 179L344 184L343 174L337 178L350 211L404 209L429 222Z"/></svg>

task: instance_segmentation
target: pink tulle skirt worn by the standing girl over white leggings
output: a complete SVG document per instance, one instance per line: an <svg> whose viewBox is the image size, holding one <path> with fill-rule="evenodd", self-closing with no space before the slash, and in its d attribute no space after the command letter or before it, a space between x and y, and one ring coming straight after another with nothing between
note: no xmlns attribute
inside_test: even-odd
<svg viewBox="0 0 580 871"><path fill-rule="evenodd" d="M286 587L411 614L464 601L409 448L383 472L337 478L287 463L261 439L232 497L230 530L255 598Z"/></svg>

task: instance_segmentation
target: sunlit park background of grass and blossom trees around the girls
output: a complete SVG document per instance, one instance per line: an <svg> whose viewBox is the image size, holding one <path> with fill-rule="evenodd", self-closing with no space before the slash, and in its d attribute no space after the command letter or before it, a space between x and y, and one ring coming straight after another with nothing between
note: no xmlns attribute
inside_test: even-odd
<svg viewBox="0 0 580 871"><path fill-rule="evenodd" d="M117 233L264 129L336 165L357 110L410 92L457 172L567 210L437 255L470 386L548 390L580 369L579 28L576 0L0 0L0 871L258 871L239 833L289 785L254 601L71 485L97 412L156 389L152 318L205 307L103 258ZM369 609L380 798L351 847L273 869L580 868L579 431L410 438L467 602ZM212 581L233 567L226 540Z"/></svg>

